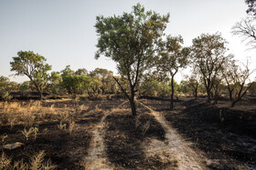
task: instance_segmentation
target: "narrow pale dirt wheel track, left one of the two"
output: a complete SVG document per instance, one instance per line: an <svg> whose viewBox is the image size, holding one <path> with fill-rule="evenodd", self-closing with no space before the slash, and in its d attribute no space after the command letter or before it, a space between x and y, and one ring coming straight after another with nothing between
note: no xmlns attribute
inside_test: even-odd
<svg viewBox="0 0 256 170"><path fill-rule="evenodd" d="M123 104L118 107L122 107L127 101L123 102ZM88 155L85 158L84 162L85 169L89 170L103 170L103 169L112 169L110 165L107 163L107 156L105 153L105 145L104 145L104 121L107 115L110 115L112 112L106 112L102 118L101 122L94 127L92 131L92 139L90 143L90 150L88 151Z"/></svg>

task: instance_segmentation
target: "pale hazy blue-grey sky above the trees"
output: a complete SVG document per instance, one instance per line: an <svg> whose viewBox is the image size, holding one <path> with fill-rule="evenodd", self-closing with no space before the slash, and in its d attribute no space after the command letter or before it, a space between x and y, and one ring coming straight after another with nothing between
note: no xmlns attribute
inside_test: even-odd
<svg viewBox="0 0 256 170"><path fill-rule="evenodd" d="M0 75L18 83L28 80L10 71L12 57L20 50L45 56L53 71L70 65L73 70L101 67L117 74L110 58L94 59L96 16L130 13L137 3L160 15L169 13L165 33L182 35L185 46L203 33L219 32L229 42L229 53L240 61L251 56L255 68L255 51L231 34L232 26L246 16L243 0L0 0ZM176 81L188 72L177 75Z"/></svg>

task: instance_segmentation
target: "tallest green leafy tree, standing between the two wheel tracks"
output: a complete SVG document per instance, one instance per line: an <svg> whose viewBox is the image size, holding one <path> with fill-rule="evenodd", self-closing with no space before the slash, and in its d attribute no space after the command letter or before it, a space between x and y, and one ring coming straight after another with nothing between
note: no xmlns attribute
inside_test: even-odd
<svg viewBox="0 0 256 170"><path fill-rule="evenodd" d="M145 12L140 4L134 5L130 14L96 18L99 39L95 57L105 55L117 64L118 73L127 80L129 89L123 88L118 79L113 78L128 98L133 115L136 115L134 96L138 83L159 51L168 18L169 15Z"/></svg>

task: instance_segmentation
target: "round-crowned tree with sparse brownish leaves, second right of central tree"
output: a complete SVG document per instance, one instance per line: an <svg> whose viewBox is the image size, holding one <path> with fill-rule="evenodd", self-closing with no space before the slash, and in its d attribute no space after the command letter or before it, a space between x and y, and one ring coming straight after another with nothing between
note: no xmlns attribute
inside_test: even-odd
<svg viewBox="0 0 256 170"><path fill-rule="evenodd" d="M220 69L227 58L225 56L226 43L226 40L218 33L203 34L193 39L191 57L198 69L198 74L202 76L208 94L208 103L210 103L214 80L219 76Z"/></svg>

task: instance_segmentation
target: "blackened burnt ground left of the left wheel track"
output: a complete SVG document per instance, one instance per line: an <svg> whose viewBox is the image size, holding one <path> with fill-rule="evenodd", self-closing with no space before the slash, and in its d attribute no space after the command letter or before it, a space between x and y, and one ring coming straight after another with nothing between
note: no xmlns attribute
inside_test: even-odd
<svg viewBox="0 0 256 170"><path fill-rule="evenodd" d="M0 135L7 135L4 144L13 144L16 142L23 143L24 145L8 150L4 149L5 155L11 157L13 163L15 161L23 159L29 163L30 157L37 154L39 151L44 150L46 153L45 160L51 159L54 165L58 165L58 169L83 169L80 162L84 156L88 155L88 149L91 142L91 130L93 126L98 124L102 115L106 110L110 110L115 107L119 101L112 100L106 101L50 101L43 102L44 106L53 105L56 109L72 108L69 112L69 117L63 119L59 115L45 114L43 119L39 116L36 117L35 124L38 128L37 138L34 139L34 135L31 135L26 140L21 131L24 130L25 125L14 125L10 130L10 125L0 125ZM27 102L22 102L23 105L27 105ZM80 105L88 106L86 110L80 110ZM65 109L63 110L63 112ZM2 122L6 122L7 119L4 113L0 112ZM71 134L66 130L58 128L59 122L66 124L69 128L69 121L73 120L76 125ZM1 147L2 148L2 147ZM2 155L2 150L0 150Z"/></svg>

